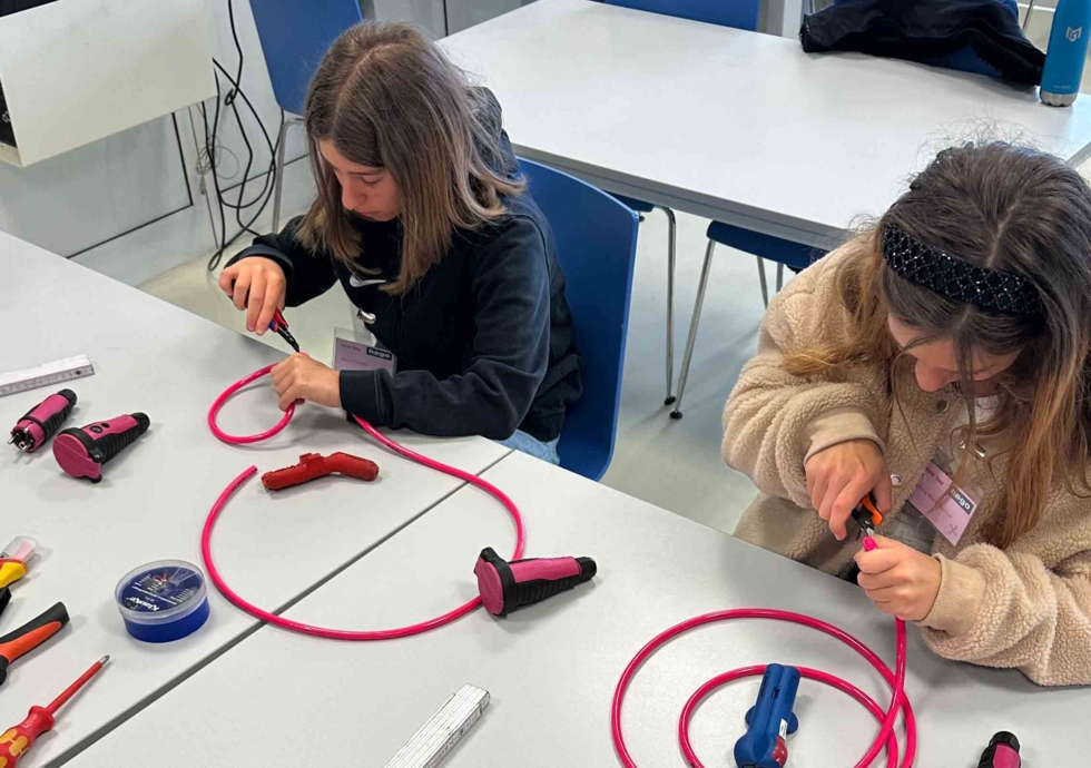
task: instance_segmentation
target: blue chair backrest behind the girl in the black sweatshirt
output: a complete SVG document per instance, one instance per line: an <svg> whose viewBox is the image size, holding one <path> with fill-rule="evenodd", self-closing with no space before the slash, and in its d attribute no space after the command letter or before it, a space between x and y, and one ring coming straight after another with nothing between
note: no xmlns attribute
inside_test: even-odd
<svg viewBox="0 0 1091 768"><path fill-rule="evenodd" d="M613 457L618 430L637 215L568 174L523 159L519 168L553 230L583 356L583 396L564 416L561 466L599 480Z"/></svg>

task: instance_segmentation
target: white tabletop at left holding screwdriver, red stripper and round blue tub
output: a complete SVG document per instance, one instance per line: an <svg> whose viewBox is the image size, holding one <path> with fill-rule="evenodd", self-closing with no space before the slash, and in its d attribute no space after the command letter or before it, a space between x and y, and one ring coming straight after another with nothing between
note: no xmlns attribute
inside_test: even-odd
<svg viewBox="0 0 1091 768"><path fill-rule="evenodd" d="M226 299L225 299L226 301ZM350 427L344 414L303 406L276 439L249 449L219 443L205 413L230 382L283 357L254 339L0 234L0 371L88 355L95 376L67 384L79 396L66 426L145 411L151 429L106 465L92 485L65 475L50 446L30 455L0 452L0 547L19 534L38 539L42 557L12 589L0 634L58 600L71 624L11 667L0 689L0 728L48 703L99 657L114 660L63 712L31 752L31 766L62 761L89 736L109 729L178 679L257 627L212 587L212 618L199 632L166 646L128 637L114 602L127 571L158 559L200 564L199 535L220 490L249 463L287 466L301 453L348 451L381 467L373 484L343 477L272 498L255 477L224 512L214 542L239 592L276 609L305 593L413 520L461 482L393 456ZM272 390L255 385L220 424L261 431L279 416ZM61 385L0 398L7 431ZM470 472L508 453L481 439L431 440L399 434L415 450ZM367 623L367 622L365 622Z"/></svg>

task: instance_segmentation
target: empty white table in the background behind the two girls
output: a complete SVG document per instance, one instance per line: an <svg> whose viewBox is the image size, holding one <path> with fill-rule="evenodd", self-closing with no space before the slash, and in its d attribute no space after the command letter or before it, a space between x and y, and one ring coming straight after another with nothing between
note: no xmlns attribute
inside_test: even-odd
<svg viewBox="0 0 1091 768"><path fill-rule="evenodd" d="M1054 109L982 76L589 0L539 0L442 45L497 93L520 155L822 247L983 120L1073 164L1091 144L1085 98Z"/></svg>

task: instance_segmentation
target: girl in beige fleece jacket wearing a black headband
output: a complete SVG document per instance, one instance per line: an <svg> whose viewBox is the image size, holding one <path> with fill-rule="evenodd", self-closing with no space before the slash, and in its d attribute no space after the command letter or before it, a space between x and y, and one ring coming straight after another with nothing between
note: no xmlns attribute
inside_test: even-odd
<svg viewBox="0 0 1091 768"><path fill-rule="evenodd" d="M1089 348L1088 185L1009 145L941 152L770 304L724 414L761 491L736 535L855 577L943 657L1091 683Z"/></svg>

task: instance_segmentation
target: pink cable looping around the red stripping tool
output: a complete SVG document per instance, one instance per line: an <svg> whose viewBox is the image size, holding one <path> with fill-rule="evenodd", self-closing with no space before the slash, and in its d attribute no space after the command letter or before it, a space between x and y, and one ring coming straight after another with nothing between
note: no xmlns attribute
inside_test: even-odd
<svg viewBox="0 0 1091 768"><path fill-rule="evenodd" d="M267 432L263 432L257 435L246 435L246 436L229 435L216 425L216 415L219 413L219 410L220 407L223 407L224 403L226 403L230 398L230 396L234 395L236 392L238 392L240 388L243 388L250 382L255 381L256 378L259 378L261 376L267 374L269 370L272 370L272 367L273 367L272 365L266 366L261 371L255 371L249 376L246 376L245 378L235 382L229 387L227 387L224 391L224 393L219 397L217 397L216 401L213 403L212 408L209 408L208 411L208 426L209 429L212 429L213 434L216 435L219 440L224 441L225 443L232 443L232 444L256 443L262 440L267 440L272 437L276 433L281 432L281 430L287 426L288 422L292 421L292 415L295 413L294 404L288 407L287 412L284 414L284 419L282 419L276 426L274 426L272 430L268 430ZM367 422L358 417L355 419L356 422L364 429L364 431L368 435L374 437L376 441L379 441L379 443L390 449L391 451L394 451L405 456L406 459L415 461L419 464L423 464L429 469L436 470L438 472L443 472L444 474L449 474L452 477L458 477L459 480L465 481L471 485L475 485L481 490L485 491L486 493L491 494L492 496L494 496L501 504L504 505L509 514L511 514L512 522L515 523L515 552L511 557L511 559L519 560L520 558L522 558L523 547L525 544L525 539L527 539L527 532L523 526L523 518L519 512L519 508L515 506L515 502L513 502L511 499L508 498L508 494L505 494L503 491L498 489L492 483L482 480L481 477L474 474L464 472L454 466L449 466L442 462L435 461L434 459L429 459L427 456L416 453L415 451L411 451L404 445L399 445L393 440L390 440L389 437L382 435L375 427L373 427ZM343 629L330 629L326 627L315 627L313 624L305 624L302 621L293 621L292 619L286 619L282 616L277 616L276 613L271 613L265 609L258 608L257 605L247 601L245 598L239 595L235 590L233 590L230 587L227 585L227 582L224 581L224 577L220 575L219 573L219 569L216 568L216 562L213 560L213 548L212 548L213 529L216 526L216 520L224 511L224 506L227 504L227 501L235 494L235 492L239 489L239 486L243 485L243 483L245 483L254 475L255 472L257 472L256 466L247 467L242 474L235 477L235 480L233 480L227 488L224 489L224 491L219 494L219 498L216 500L216 503L213 504L213 509L208 513L208 518L205 519L205 526L200 533L200 557L205 561L205 569L208 571L208 575L212 578L213 583L216 584L216 589L218 589L224 594L224 597L227 598L237 608L240 608L242 610L246 611L250 616L261 619L262 621L268 622L274 627L281 627L282 629L292 630L293 632L302 632L303 634L313 634L315 637L328 638L332 640L368 641L368 640L394 640L395 638L405 638L405 637L410 637L411 634L420 634L421 632L427 632L429 630L435 629L436 627L442 627L444 624L454 621L455 619L460 619L466 613L470 613L471 611L475 610L479 605L481 605L481 598L476 597L473 600L470 600L469 602L459 605L454 610L449 611L442 616L438 616L434 619L429 619L427 621L422 621L421 623L417 624L410 624L409 627L400 627L397 629L384 629L384 630L343 630Z"/></svg>

